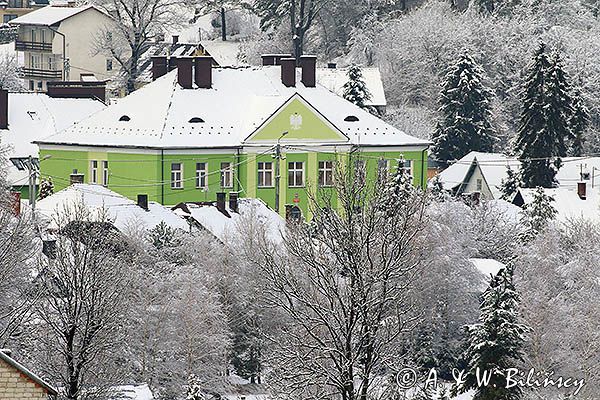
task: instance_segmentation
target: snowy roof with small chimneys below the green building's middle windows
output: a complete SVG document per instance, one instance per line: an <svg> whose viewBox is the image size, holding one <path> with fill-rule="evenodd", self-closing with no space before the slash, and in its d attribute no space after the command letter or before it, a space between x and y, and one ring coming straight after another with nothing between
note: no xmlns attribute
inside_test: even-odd
<svg viewBox="0 0 600 400"><path fill-rule="evenodd" d="M184 208L187 208L189 213ZM281 242L285 230L285 221L262 200L241 198L238 199L237 213L229 208L228 203L226 211L229 217L212 204L185 203L184 207L177 207L174 212L181 217L193 218L199 225L224 243L236 239L236 235L240 233L243 234L241 232L244 229L242 225L249 221L258 222L263 226L271 241Z"/></svg>

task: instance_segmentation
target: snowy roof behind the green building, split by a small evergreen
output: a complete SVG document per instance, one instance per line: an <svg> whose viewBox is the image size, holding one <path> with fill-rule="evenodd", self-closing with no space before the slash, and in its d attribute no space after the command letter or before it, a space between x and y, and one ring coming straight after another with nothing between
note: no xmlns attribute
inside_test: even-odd
<svg viewBox="0 0 600 400"><path fill-rule="evenodd" d="M385 91L379 68L361 68L371 99L365 102L369 106L385 106ZM338 96L344 95L344 84L348 82L348 68L318 68L317 82Z"/></svg>

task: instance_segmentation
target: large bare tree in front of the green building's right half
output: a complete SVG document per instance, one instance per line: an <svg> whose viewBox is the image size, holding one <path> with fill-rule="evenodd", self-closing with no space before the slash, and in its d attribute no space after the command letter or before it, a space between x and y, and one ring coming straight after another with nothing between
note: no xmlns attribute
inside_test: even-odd
<svg viewBox="0 0 600 400"><path fill-rule="evenodd" d="M423 261L425 196L400 168L374 185L362 176L339 167L337 203L317 192L285 251L260 245L267 301L283 318L269 378L290 397L366 400L415 322L407 294Z"/></svg>

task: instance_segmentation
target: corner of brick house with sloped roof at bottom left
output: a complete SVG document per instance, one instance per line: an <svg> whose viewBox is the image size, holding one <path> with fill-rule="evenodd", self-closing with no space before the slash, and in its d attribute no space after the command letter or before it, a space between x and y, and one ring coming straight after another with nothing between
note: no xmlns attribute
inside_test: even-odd
<svg viewBox="0 0 600 400"><path fill-rule="evenodd" d="M11 357L9 350L0 349L0 399L53 400L57 390Z"/></svg>

